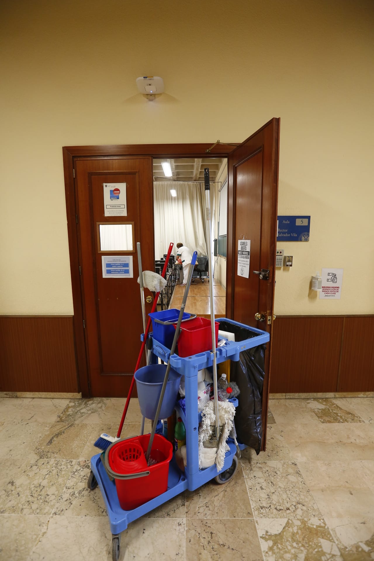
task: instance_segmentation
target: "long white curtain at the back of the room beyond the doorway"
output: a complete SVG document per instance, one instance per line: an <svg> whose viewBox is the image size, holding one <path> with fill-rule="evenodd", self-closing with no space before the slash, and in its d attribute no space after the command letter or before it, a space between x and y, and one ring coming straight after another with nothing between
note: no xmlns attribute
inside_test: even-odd
<svg viewBox="0 0 374 561"><path fill-rule="evenodd" d="M173 242L173 253L177 243L206 255L205 241L205 192L204 183L178 181L154 182L155 258L167 253ZM175 189L172 197L170 189Z"/></svg>

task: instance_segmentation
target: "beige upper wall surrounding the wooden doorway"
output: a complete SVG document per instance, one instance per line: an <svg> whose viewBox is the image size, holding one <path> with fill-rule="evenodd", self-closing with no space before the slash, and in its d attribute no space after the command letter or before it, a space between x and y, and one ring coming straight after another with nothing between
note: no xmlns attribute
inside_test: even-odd
<svg viewBox="0 0 374 561"><path fill-rule="evenodd" d="M233 6L235 9L233 9ZM373 3L2 2L2 314L72 314L63 145L240 142L281 118L278 314L374 312ZM150 103L135 80L162 76ZM340 301L310 276L344 268Z"/></svg>

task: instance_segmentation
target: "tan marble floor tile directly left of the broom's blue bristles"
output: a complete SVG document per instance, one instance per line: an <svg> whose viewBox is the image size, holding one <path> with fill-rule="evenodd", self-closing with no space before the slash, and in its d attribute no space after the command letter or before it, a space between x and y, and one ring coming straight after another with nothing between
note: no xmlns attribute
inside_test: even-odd
<svg viewBox="0 0 374 561"><path fill-rule="evenodd" d="M39 458L78 459L87 444L91 426L56 422L39 440L34 452Z"/></svg>

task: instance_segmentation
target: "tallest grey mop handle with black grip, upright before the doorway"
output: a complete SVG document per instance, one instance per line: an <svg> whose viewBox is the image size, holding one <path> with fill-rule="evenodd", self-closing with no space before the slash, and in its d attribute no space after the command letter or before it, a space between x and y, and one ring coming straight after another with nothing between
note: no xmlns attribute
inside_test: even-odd
<svg viewBox="0 0 374 561"><path fill-rule="evenodd" d="M209 295L210 295L210 325L212 334L213 352L213 389L214 389L214 413L215 413L215 438L219 438L219 411L218 411L218 382L217 382L217 359L215 350L215 318L214 318L214 279L213 261L211 251L211 218L210 218L210 178L209 168L204 168L204 185L206 200L206 223L207 223L207 254L209 259Z"/></svg>

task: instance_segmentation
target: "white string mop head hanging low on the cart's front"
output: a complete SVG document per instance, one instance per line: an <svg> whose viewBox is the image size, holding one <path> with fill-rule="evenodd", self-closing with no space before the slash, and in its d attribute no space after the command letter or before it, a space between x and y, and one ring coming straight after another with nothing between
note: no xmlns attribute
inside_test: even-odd
<svg viewBox="0 0 374 561"><path fill-rule="evenodd" d="M211 453L211 457L217 466L217 470L221 471L225 462L226 453L226 441L233 427L233 420L235 416L235 407L229 401L219 401L218 402L218 412L219 412L219 426L223 427L223 434L219 439L219 445L217 448L204 449L204 442L209 440L212 434L212 427L215 429L215 413L214 413L214 401L209 401L201 413L201 428L198 431L198 467L200 470L207 467L203 462L206 459L206 453ZM218 444L218 443L217 443Z"/></svg>

